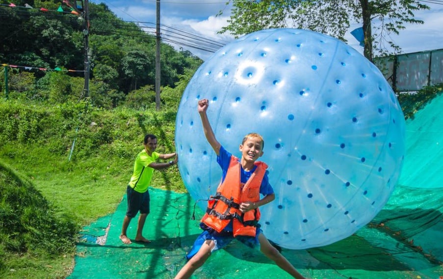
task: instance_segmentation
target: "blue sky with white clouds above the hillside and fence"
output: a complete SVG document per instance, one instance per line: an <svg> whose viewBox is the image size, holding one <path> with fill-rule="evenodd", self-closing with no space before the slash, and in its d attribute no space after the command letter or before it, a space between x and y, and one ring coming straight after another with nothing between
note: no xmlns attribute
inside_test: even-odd
<svg viewBox="0 0 443 279"><path fill-rule="evenodd" d="M164 42L176 49L188 50L195 56L208 59L213 52L234 40L229 34L217 34L230 18L228 0L160 0L160 28ZM155 33L156 0L90 0L105 3L124 21L137 22L146 31ZM422 0L431 9L414 12L423 25L405 25L400 35L391 36L402 53L443 49L443 0ZM223 11L222 15L217 14ZM363 53L363 47L351 35L361 25L351 24L346 32L347 44Z"/></svg>

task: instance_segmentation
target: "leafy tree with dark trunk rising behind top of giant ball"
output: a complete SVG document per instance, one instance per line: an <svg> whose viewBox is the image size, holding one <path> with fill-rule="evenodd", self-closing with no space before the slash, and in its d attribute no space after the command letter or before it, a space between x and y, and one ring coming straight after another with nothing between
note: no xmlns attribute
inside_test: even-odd
<svg viewBox="0 0 443 279"><path fill-rule="evenodd" d="M229 1L227 4L229 4ZM370 61L377 55L401 52L391 40L406 23L423 24L414 18L417 10L429 9L418 0L232 0L228 26L220 33L238 37L267 28L302 28L336 37L342 41L350 22L363 24L364 55ZM219 14L222 14L221 12Z"/></svg>

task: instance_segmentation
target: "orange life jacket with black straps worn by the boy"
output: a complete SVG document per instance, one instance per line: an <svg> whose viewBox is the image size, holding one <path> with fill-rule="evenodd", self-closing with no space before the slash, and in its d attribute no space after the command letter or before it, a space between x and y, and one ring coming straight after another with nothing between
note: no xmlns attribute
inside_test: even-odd
<svg viewBox="0 0 443 279"><path fill-rule="evenodd" d="M260 200L260 186L268 167L263 162L254 163L257 168L248 181L240 189L240 162L231 156L225 180L220 183L215 196L210 196L206 214L202 222L221 232L233 220L234 237L237 235L256 235L256 227L260 219L258 208L242 213L239 205L242 202Z"/></svg>

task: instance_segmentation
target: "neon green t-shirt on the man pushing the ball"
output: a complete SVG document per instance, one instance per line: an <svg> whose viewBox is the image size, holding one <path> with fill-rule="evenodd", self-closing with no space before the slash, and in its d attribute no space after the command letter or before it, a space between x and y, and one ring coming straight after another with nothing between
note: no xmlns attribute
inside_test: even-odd
<svg viewBox="0 0 443 279"><path fill-rule="evenodd" d="M129 186L132 189L139 193L145 193L148 190L154 172L154 168L148 167L148 165L156 162L159 156L160 154L157 152L153 152L152 156L149 156L145 149L137 154L134 163L134 172L129 182Z"/></svg>

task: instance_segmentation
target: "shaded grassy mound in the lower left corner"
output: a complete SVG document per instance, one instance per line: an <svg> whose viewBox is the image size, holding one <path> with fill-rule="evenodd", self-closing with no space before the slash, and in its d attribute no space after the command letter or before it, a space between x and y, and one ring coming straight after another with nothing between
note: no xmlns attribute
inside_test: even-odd
<svg viewBox="0 0 443 279"><path fill-rule="evenodd" d="M0 185L0 278L66 277L78 224L4 162Z"/></svg>

